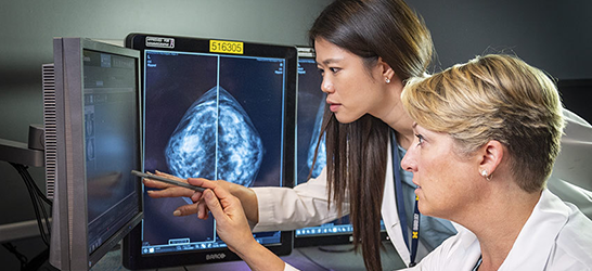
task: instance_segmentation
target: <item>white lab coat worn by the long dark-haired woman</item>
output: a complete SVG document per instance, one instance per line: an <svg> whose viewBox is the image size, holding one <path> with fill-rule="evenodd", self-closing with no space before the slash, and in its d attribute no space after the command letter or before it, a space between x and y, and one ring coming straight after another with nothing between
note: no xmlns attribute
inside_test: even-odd
<svg viewBox="0 0 592 271"><path fill-rule="evenodd" d="M592 126L569 111L564 111L564 116L567 126L562 139L562 153L557 157L553 175L549 180L549 189L563 201L577 205L588 217L592 217ZM395 249L409 266L410 253L402 237L397 214L390 144L386 147L388 160L382 216ZM254 188L254 191L259 205L259 223L253 229L254 232L289 231L319 225L339 218L334 205L327 210L329 191L325 169L318 178L310 179L294 189ZM344 215L349 211L347 203L343 206L343 210ZM411 230L408 234L411 234ZM419 243L416 259L422 259L429 251L422 242Z"/></svg>

